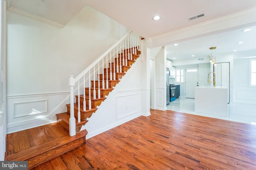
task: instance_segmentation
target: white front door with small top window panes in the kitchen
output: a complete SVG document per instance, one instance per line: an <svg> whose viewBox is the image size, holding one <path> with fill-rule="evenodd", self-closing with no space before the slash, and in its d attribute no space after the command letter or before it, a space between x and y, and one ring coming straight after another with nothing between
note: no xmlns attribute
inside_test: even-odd
<svg viewBox="0 0 256 170"><path fill-rule="evenodd" d="M195 88L198 86L198 67L186 67L185 98L195 98Z"/></svg>

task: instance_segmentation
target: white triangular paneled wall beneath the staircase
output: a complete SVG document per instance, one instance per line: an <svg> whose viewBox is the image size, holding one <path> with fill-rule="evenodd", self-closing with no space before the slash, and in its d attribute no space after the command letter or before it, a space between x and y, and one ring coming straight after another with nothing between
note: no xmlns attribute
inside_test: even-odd
<svg viewBox="0 0 256 170"><path fill-rule="evenodd" d="M98 110L87 119L88 122L82 127L88 131L86 139L138 116L150 115L150 72L144 72L144 69L149 69L149 62L146 53L142 53Z"/></svg>

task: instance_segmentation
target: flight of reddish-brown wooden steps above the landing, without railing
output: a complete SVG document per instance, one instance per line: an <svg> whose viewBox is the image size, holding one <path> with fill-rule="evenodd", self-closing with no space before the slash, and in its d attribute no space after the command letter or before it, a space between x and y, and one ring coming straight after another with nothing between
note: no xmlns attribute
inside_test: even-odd
<svg viewBox="0 0 256 170"><path fill-rule="evenodd" d="M130 51L126 50L126 53L130 53ZM122 54L118 55L119 59L121 56L121 60L124 58ZM136 54L132 54L132 58L127 60L127 63L129 64L129 66L125 66L121 64L121 68L122 68L122 72L115 72L115 73L111 73L112 77L115 76L116 80L110 80L111 74L110 74L110 68L104 68L104 72L105 74L99 74L100 77L100 82L98 82L99 80L95 80L95 83L93 80L91 80L91 87L86 87L85 88L85 101L86 101L86 110L84 110L84 95L76 95L76 103L74 103L74 117L76 118L76 132L79 132L81 127L83 125L85 125L87 123L87 118L90 118L92 113L94 113L97 110L97 106L100 106L100 104L106 99L106 96L108 96L108 94L114 90L114 87L116 86L116 84L118 84L118 82L120 82L120 79L122 78L122 76L124 76L127 70L129 70L129 68L132 66L132 64L135 62L135 60L140 56L140 51L138 51L136 49ZM115 63L117 62L117 60L115 59ZM121 62L122 63L122 62ZM114 65L113 63L109 63L110 65ZM116 64L115 64L116 65ZM111 70L114 70L114 67L112 67ZM117 69L115 69L117 70ZM108 72L108 73L106 73ZM107 75L108 74L108 75ZM104 81L104 84L106 83L106 79L108 76L108 87L107 88L103 88L102 87L102 81ZM104 78L104 79L103 79ZM99 86L100 85L100 86ZM98 96L98 92L100 90L100 98L96 98L93 99L93 95L94 95L94 86L95 86L95 91L96 91L96 96ZM89 108L89 100L91 97L91 108ZM80 101L80 122L78 123L77 119L78 119L78 108L79 108L79 104L78 104L78 100ZM62 125L62 127L64 127L66 130L69 131L69 119L70 119L70 104L67 104L67 112L66 113L59 113L56 114L57 116L57 121L60 125Z"/></svg>

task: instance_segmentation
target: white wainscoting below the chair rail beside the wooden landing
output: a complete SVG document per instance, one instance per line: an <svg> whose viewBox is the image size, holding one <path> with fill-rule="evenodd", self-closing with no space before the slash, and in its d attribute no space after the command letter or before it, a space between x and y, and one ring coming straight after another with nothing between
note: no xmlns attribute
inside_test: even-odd
<svg viewBox="0 0 256 170"><path fill-rule="evenodd" d="M56 121L56 114L66 111L69 92L7 96L7 133Z"/></svg>

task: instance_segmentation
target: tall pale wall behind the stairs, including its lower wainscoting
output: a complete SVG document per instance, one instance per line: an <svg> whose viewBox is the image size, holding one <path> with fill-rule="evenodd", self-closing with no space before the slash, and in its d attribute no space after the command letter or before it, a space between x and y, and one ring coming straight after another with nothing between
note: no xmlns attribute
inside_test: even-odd
<svg viewBox="0 0 256 170"><path fill-rule="evenodd" d="M11 12L7 22L8 133L55 121L66 111L69 75L77 76L128 32L90 6L62 29Z"/></svg>

